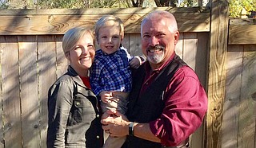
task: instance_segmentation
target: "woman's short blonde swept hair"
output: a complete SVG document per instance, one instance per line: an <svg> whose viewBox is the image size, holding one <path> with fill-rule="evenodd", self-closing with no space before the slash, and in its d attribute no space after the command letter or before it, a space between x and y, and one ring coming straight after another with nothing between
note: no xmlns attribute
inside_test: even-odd
<svg viewBox="0 0 256 148"><path fill-rule="evenodd" d="M77 44L78 40L85 34L89 33L90 36L94 40L94 33L90 29L86 29L83 27L75 27L73 29L69 29L62 38L62 49L67 57L70 50L74 49L74 46ZM95 40L94 40L95 47Z"/></svg>

